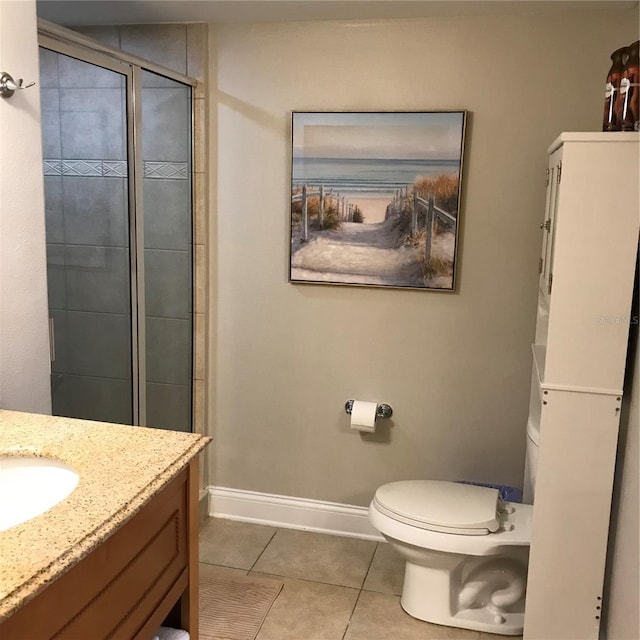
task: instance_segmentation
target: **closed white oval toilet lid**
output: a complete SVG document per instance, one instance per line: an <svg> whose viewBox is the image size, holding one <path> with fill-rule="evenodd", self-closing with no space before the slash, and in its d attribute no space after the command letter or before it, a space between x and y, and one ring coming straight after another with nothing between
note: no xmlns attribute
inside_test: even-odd
<svg viewBox="0 0 640 640"><path fill-rule="evenodd" d="M394 520L414 527L486 535L500 527L497 489L442 480L404 480L381 486L376 508Z"/></svg>

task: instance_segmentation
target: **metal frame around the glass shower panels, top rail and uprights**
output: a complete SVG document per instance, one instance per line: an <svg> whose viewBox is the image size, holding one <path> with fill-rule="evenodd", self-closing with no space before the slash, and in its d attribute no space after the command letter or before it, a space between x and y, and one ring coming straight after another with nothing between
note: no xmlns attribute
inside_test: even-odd
<svg viewBox="0 0 640 640"><path fill-rule="evenodd" d="M142 159L142 71L151 71L185 84L191 88L191 173L193 173L195 145L193 141L195 100L193 89L197 80L167 69L154 62L113 49L47 20L38 19L38 45L62 55L88 62L126 77L127 113L127 175L129 196L129 263L131 294L131 375L133 424L147 423L146 406L146 329L144 280L144 225ZM195 202L194 180L191 180L191 206ZM192 229L193 235L193 229ZM134 240L134 242L132 242ZM191 265L193 278L194 265ZM192 298L193 305L193 298ZM192 313L192 318L194 314ZM191 403L193 405L193 320L191 325ZM193 430L193 415L191 428Z"/></svg>

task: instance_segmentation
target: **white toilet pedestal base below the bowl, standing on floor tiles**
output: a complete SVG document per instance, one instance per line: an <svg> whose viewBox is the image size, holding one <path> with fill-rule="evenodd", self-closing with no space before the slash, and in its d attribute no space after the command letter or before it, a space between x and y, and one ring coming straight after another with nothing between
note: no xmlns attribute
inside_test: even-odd
<svg viewBox="0 0 640 640"><path fill-rule="evenodd" d="M508 607L515 610L496 606L492 601L492 597L500 601L500 596L495 597L498 593L507 594L507 599L511 593L515 596L518 592L524 594L524 583L520 584L517 565L515 571L512 571L511 567L507 567L505 571L505 565L501 560L485 559L475 570L475 573L482 574L481 580L474 580L472 573L460 590L459 587L452 588L457 582L456 579L452 581L452 578L462 573L465 564L460 556L457 558L461 560L457 567L449 564L453 560L451 557L442 558L445 562L440 566L426 567L407 561L400 600L402 608L410 616L425 622L507 636L522 635L524 599L522 598L519 605ZM524 571L526 576L526 568ZM511 583L503 581L505 573L511 574ZM500 582L491 585L487 576L490 580L492 574L499 575ZM470 592L471 597L466 597ZM467 604L473 606L465 607L466 600Z"/></svg>

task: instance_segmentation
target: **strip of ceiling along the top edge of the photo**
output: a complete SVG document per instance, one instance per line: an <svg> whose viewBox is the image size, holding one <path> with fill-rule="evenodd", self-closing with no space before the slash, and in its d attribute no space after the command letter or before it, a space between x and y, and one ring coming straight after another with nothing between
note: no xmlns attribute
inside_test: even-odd
<svg viewBox="0 0 640 640"><path fill-rule="evenodd" d="M619 0L37 0L39 17L69 26L454 17L637 6Z"/></svg>

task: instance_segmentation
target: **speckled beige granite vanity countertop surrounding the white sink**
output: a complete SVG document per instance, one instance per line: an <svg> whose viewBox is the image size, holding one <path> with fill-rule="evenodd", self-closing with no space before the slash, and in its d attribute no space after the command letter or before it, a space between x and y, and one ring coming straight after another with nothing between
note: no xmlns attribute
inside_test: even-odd
<svg viewBox="0 0 640 640"><path fill-rule="evenodd" d="M75 490L0 531L0 621L99 546L211 439L194 434L0 410L0 456L64 462Z"/></svg>

